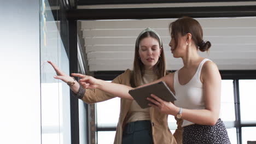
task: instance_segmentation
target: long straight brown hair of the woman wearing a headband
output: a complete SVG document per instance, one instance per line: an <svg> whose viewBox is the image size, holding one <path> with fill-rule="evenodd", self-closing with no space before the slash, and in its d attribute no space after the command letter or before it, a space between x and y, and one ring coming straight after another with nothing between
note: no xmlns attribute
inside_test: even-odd
<svg viewBox="0 0 256 144"><path fill-rule="evenodd" d="M143 81L142 77L145 72L144 64L142 63L141 59L139 59L139 43L142 39L147 37L152 37L156 40L158 40L160 49L162 49L162 52L160 54L160 58L158 62L154 65L153 71L154 74L160 79L162 76L166 75L166 62L165 62L165 53L164 53L164 47L162 46L162 43L160 42L160 38L158 35L155 34L156 32L148 31L144 32L143 34L139 35L139 37L136 40L135 44L135 56L133 61L133 70L131 73L131 79L130 83L132 87L138 87L141 85L141 81ZM162 47L161 47L162 46Z"/></svg>

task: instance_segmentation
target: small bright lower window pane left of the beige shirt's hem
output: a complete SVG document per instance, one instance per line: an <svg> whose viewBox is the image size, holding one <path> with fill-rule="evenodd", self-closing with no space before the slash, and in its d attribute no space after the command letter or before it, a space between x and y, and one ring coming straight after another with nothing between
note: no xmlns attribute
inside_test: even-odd
<svg viewBox="0 0 256 144"><path fill-rule="evenodd" d="M114 143L115 131L98 131L97 132L97 143L106 144Z"/></svg>

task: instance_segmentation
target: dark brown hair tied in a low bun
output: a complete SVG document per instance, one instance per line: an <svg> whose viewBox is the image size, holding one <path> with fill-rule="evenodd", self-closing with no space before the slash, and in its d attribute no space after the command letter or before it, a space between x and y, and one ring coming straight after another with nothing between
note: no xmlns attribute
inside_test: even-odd
<svg viewBox="0 0 256 144"><path fill-rule="evenodd" d="M200 23L191 17L181 17L178 20L170 23L169 31L174 39L174 49L177 48L179 40L178 34L184 36L187 33L191 33L192 40L194 41L197 49L200 51L207 51L211 47L210 41L203 41L203 32Z"/></svg>

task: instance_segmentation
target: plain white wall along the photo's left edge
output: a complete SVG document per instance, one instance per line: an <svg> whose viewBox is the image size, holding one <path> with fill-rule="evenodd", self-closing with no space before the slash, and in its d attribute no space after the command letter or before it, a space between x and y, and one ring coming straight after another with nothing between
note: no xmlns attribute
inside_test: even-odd
<svg viewBox="0 0 256 144"><path fill-rule="evenodd" d="M0 143L41 143L39 0L0 3Z"/></svg>

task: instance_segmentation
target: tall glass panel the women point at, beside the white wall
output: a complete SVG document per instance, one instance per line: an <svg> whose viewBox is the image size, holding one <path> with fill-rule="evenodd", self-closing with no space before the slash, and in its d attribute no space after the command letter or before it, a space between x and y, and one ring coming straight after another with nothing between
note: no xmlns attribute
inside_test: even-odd
<svg viewBox="0 0 256 144"><path fill-rule="evenodd" d="M68 144L71 143L69 87L53 78L56 73L47 63L52 61L69 74L68 57L58 31L59 22L54 20L48 1L41 1L40 6L42 144Z"/></svg>

